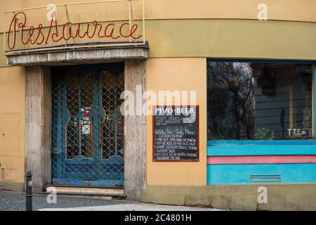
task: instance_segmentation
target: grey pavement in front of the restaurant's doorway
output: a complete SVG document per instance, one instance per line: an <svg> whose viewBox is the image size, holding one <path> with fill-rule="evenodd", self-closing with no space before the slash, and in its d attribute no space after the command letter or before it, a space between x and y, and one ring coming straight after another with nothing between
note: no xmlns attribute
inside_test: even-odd
<svg viewBox="0 0 316 225"><path fill-rule="evenodd" d="M34 210L40 211L218 211L199 207L181 207L138 203L128 200L107 200L96 197L58 195L56 204L47 203L47 195L34 195ZM0 191L0 211L24 211L25 193Z"/></svg>

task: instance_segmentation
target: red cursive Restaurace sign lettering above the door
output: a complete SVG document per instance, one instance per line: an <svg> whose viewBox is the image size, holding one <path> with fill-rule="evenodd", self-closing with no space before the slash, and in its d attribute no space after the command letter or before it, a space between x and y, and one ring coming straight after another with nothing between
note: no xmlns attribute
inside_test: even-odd
<svg viewBox="0 0 316 225"><path fill-rule="evenodd" d="M84 27L84 25L86 27ZM22 45L41 46L69 39L140 39L138 25L130 23L104 23L94 20L92 23L65 23L58 25L56 13L53 13L49 26L27 24L27 14L18 12L14 15L8 27L8 49L16 47L17 40Z"/></svg>

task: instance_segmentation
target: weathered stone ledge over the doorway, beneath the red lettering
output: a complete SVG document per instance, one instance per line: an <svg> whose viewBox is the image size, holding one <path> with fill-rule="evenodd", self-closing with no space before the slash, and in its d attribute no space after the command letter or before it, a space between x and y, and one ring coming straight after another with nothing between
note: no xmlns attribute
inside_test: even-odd
<svg viewBox="0 0 316 225"><path fill-rule="evenodd" d="M23 53L7 56L8 65L74 65L105 63L128 59L146 60L148 46L132 46L104 49L77 49Z"/></svg>

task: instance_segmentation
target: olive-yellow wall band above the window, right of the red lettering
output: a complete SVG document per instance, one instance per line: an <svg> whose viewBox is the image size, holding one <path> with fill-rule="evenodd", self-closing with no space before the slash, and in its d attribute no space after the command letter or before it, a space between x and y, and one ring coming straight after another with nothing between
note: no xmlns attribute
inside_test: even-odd
<svg viewBox="0 0 316 225"><path fill-rule="evenodd" d="M150 58L316 60L316 23L149 20L146 37ZM1 40L3 34L0 34ZM3 44L0 51L0 67L6 66Z"/></svg>

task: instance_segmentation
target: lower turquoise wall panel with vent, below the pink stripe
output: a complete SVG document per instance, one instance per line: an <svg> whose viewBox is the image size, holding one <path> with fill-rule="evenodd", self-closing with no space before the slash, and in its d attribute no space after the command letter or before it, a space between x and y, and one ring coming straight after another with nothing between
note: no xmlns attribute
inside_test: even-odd
<svg viewBox="0 0 316 225"><path fill-rule="evenodd" d="M251 175L257 175L255 181ZM258 181L258 175L264 181ZM270 183L279 175L282 183L313 183L316 164L207 165L208 185Z"/></svg>

